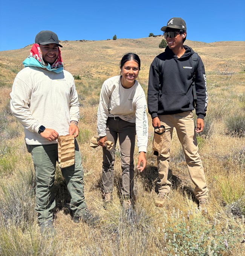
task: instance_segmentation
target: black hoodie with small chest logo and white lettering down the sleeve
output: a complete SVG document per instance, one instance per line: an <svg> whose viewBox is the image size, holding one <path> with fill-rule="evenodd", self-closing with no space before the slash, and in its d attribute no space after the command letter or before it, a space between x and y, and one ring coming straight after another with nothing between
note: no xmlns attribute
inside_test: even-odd
<svg viewBox="0 0 245 256"><path fill-rule="evenodd" d="M185 53L178 58L167 46L165 52L156 56L150 66L147 104L152 118L158 115L182 113L194 108L198 118L204 119L206 115L208 96L204 64L198 56L195 78L197 100L194 102L191 85L193 80L191 55L194 51L186 45L184 48ZM162 70L159 70L161 66Z"/></svg>

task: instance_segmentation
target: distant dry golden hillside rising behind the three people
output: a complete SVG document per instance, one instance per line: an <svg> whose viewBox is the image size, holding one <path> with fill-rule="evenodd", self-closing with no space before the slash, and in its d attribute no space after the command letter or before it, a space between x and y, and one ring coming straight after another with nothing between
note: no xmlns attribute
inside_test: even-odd
<svg viewBox="0 0 245 256"><path fill-rule="evenodd" d="M66 70L72 74L80 74L85 78L108 77L118 73L121 57L128 52L137 53L141 58L141 76L147 79L149 65L154 57L162 52L158 48L163 37L147 37L141 39L118 39L103 41L61 41L63 61ZM245 42L203 43L186 40L205 64L207 72L228 71L239 72L245 69ZM23 60L29 55L32 45L19 50L0 52L1 82L13 78L14 74L5 74L20 70Z"/></svg>

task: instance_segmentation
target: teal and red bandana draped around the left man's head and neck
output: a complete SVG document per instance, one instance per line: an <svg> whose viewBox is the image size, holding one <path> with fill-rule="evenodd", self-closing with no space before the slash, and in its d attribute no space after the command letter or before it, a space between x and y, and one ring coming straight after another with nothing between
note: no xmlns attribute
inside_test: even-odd
<svg viewBox="0 0 245 256"><path fill-rule="evenodd" d="M55 73L60 73L64 69L64 64L61 59L61 52L60 48L58 57L54 64L50 65L46 64L43 61L43 56L40 50L40 47L38 43L34 43L34 45L31 48L30 55L23 61L24 67L40 67L40 68L46 68L49 71L54 71Z"/></svg>

